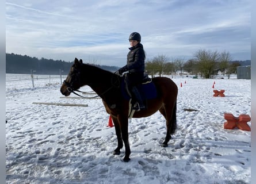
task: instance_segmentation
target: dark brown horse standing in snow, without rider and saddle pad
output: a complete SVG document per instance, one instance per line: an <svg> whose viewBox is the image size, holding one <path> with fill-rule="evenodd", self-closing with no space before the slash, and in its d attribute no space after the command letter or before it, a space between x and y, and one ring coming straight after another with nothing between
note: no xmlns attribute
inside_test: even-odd
<svg viewBox="0 0 256 184"><path fill-rule="evenodd" d="M82 60L75 58L70 72L63 82L60 91L68 96L80 87L88 85L97 93L103 101L106 112L110 114L114 128L116 129L117 148L114 155L120 154L120 149L125 146L124 162L128 162L131 150L128 141L128 113L129 101L121 93L121 76L113 72L102 70L90 64L83 64ZM167 147L171 135L175 133L176 124L176 101L178 87L171 79L166 77L152 78L157 92L157 97L147 100L147 109L133 114L134 118L148 117L159 110L166 119L166 137L162 147ZM74 92L75 93L75 92Z"/></svg>

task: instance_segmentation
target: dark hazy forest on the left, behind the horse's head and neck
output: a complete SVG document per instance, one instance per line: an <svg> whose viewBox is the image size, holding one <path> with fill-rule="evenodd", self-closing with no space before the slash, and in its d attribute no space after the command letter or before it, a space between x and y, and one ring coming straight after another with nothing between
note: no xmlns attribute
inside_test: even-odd
<svg viewBox="0 0 256 184"><path fill-rule="evenodd" d="M104 70L116 71L119 67L105 66L95 64L97 61L90 60L89 64L94 64ZM65 62L63 60L45 59L42 57L30 57L27 55L18 55L14 53L6 53L6 73L10 74L30 74L31 71L35 71L36 74L42 75L59 75L62 72L63 75L67 75L73 62Z"/></svg>

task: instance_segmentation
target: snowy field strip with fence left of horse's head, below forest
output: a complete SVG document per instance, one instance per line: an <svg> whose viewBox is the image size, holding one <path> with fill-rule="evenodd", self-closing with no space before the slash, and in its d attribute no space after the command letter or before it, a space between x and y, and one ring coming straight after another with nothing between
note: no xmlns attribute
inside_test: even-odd
<svg viewBox="0 0 256 184"><path fill-rule="evenodd" d="M66 75L6 74L5 88L26 89L62 84Z"/></svg>

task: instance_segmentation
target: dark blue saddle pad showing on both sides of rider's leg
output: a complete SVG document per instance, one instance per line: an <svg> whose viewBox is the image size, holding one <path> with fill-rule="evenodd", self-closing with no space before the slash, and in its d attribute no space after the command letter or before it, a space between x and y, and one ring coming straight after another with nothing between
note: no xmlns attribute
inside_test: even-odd
<svg viewBox="0 0 256 184"><path fill-rule="evenodd" d="M141 84L141 85L137 86L137 89L139 90L143 101L146 99L154 99L157 96L155 84L152 81L150 83ZM121 91L122 91L123 97L125 99L131 98L131 97L129 97L129 94L127 93L127 91L125 89L124 78L122 79L122 82L121 82Z"/></svg>

